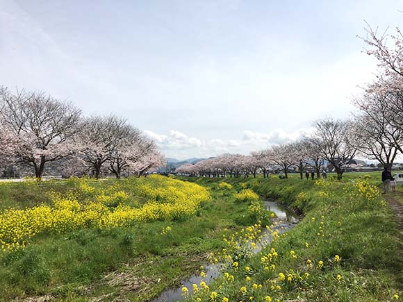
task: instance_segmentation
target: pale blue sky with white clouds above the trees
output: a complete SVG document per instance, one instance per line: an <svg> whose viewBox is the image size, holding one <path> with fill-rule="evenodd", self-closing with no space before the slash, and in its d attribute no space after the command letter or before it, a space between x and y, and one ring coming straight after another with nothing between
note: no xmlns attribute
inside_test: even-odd
<svg viewBox="0 0 403 302"><path fill-rule="evenodd" d="M346 118L399 0L0 0L0 85L118 115L168 158L297 140Z"/></svg>

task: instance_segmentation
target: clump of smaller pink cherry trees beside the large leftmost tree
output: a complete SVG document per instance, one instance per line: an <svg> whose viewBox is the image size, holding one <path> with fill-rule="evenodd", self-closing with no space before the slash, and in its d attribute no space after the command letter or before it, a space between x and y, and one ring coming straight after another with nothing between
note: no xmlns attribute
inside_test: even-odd
<svg viewBox="0 0 403 302"><path fill-rule="evenodd" d="M114 115L90 117L83 121L81 128L81 158L96 178L102 169L120 178L124 171L144 174L156 165L163 165L154 141L126 119Z"/></svg>

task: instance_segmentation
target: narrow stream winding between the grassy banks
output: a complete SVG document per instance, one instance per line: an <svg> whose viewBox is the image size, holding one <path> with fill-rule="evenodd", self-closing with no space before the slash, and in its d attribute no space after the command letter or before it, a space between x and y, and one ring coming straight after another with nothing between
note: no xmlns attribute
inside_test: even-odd
<svg viewBox="0 0 403 302"><path fill-rule="evenodd" d="M293 228L295 224L297 224L298 222L297 215L295 215L293 212L290 212L279 203L275 201L265 201L264 203L266 205L266 209L271 212L274 212L274 214L277 216L276 218L272 219L272 222L273 223L277 222L276 228L279 230L279 234L285 233L286 231ZM267 228L262 228L262 235L263 236L261 242L258 242L259 244L256 244L256 248L253 250L254 253L260 252L264 246L270 244L271 241L270 231ZM188 288L189 294L191 295L193 294L192 289L193 284L199 285L201 281L204 281L206 284L210 283L211 280L217 278L222 274L222 269L226 266L227 265L225 265L224 263L217 263L214 265L209 264L204 265L204 272L206 276L202 277L199 274L192 275L186 280L183 280L182 285L180 287L165 290L165 292L163 292L161 296L152 300L152 302L181 301L183 298L182 296L183 286Z"/></svg>

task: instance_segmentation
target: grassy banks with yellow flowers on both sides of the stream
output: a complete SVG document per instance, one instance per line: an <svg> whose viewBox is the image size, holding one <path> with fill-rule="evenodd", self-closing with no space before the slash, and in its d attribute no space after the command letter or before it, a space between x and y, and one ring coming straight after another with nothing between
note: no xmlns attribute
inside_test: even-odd
<svg viewBox="0 0 403 302"><path fill-rule="evenodd" d="M0 301L149 301L223 255L237 265L190 300L393 301L403 246L378 178L1 183ZM303 213L255 256L228 244L258 234L247 228L258 220L270 224L250 190Z"/></svg>

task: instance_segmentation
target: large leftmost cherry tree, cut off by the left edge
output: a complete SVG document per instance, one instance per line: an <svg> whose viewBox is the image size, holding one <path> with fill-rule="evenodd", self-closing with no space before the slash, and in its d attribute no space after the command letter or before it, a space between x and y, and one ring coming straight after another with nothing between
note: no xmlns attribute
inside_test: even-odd
<svg viewBox="0 0 403 302"><path fill-rule="evenodd" d="M40 179L47 162L72 156L76 150L81 110L44 92L0 88L0 143L3 157L35 170Z"/></svg>

